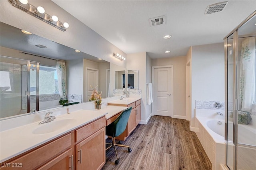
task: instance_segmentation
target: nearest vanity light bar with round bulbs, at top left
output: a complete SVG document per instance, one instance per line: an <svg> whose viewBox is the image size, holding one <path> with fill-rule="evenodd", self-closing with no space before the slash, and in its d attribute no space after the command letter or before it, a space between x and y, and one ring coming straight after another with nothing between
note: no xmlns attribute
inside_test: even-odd
<svg viewBox="0 0 256 170"><path fill-rule="evenodd" d="M59 30L66 31L67 28L69 27L67 22L64 22L64 23L60 22L57 16L50 16L49 14L46 14L44 12L44 8L41 6L35 7L29 3L27 4L22 3L20 2L20 0L8 0L8 1L12 4L12 6L58 28Z"/></svg>

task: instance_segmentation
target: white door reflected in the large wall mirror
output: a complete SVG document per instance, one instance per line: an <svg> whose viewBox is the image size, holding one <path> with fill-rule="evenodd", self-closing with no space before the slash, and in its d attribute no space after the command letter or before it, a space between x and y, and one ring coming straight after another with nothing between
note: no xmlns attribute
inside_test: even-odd
<svg viewBox="0 0 256 170"><path fill-rule="evenodd" d="M94 68L86 68L86 98L85 101L88 102L90 99L90 96L92 94L93 89L96 86L96 89L98 90L98 77L99 77L99 70ZM90 87L92 86L92 88Z"/></svg>

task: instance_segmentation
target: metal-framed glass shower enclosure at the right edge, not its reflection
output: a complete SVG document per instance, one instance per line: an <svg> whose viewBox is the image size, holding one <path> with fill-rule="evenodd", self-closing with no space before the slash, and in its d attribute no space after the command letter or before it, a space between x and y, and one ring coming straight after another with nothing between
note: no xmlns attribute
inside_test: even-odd
<svg viewBox="0 0 256 170"><path fill-rule="evenodd" d="M230 170L256 169L256 11L224 39L225 141Z"/></svg>

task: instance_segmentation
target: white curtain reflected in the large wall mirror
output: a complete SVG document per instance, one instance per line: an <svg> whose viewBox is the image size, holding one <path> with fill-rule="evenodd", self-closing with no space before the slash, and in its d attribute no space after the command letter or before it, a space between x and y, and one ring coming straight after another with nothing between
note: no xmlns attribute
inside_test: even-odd
<svg viewBox="0 0 256 170"><path fill-rule="evenodd" d="M66 65L65 62L57 61L57 76L58 76L58 88L60 98L66 98L67 95L67 81L66 81Z"/></svg>

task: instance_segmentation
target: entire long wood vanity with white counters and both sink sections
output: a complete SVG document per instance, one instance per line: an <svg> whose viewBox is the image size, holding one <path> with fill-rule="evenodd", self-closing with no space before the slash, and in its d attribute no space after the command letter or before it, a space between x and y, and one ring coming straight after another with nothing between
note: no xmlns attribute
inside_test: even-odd
<svg viewBox="0 0 256 170"><path fill-rule="evenodd" d="M30 123L0 132L0 169L100 170L106 162L105 126L132 106L126 131L120 136L125 140L140 122L140 102L140 98L114 100L100 110L78 104L69 107L70 114L61 114L67 108L60 108L53 111L56 119L44 124L38 123L45 113L28 115ZM8 124L19 124L15 119L23 118L10 119ZM1 127L5 126L3 122Z"/></svg>

